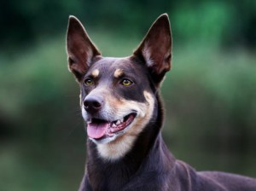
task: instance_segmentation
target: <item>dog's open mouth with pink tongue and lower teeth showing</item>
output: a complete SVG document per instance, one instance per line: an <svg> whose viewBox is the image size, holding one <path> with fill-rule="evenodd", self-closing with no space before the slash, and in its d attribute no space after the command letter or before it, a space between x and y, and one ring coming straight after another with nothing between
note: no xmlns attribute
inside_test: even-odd
<svg viewBox="0 0 256 191"><path fill-rule="evenodd" d="M101 140L107 137L121 133L136 118L137 113L130 113L123 119L109 122L104 119L91 119L87 122L87 135L95 140Z"/></svg>

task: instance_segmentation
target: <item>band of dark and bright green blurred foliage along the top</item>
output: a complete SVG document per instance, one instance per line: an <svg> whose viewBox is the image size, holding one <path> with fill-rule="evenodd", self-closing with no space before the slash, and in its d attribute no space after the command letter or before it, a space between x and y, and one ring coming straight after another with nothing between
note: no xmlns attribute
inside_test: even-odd
<svg viewBox="0 0 256 191"><path fill-rule="evenodd" d="M74 14L87 26L102 27L114 33L137 34L148 28L149 20L170 14L174 37L179 41L202 41L228 47L256 45L256 3L248 1L56 1L16 2L9 0L0 7L0 46L26 44L40 36L51 37L63 32L67 17ZM19 19L17 19L19 18ZM132 30L131 29L132 26Z"/></svg>

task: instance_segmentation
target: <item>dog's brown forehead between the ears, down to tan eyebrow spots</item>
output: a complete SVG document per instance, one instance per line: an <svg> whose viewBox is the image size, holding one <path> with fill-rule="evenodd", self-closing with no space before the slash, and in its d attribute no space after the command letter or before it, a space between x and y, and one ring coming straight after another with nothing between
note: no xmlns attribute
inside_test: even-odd
<svg viewBox="0 0 256 191"><path fill-rule="evenodd" d="M123 72L136 72L139 67L130 57L126 58L112 58L104 57L92 64L90 73L93 76L103 74L113 75L118 78Z"/></svg>

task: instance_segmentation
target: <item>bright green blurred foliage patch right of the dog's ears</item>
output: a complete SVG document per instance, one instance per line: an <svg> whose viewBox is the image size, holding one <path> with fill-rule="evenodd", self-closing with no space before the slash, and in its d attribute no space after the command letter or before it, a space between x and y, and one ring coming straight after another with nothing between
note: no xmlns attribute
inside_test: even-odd
<svg viewBox="0 0 256 191"><path fill-rule="evenodd" d="M206 2L191 9L185 4L173 14L174 29L182 42L211 43L221 45L230 32L234 7L224 2Z"/></svg>

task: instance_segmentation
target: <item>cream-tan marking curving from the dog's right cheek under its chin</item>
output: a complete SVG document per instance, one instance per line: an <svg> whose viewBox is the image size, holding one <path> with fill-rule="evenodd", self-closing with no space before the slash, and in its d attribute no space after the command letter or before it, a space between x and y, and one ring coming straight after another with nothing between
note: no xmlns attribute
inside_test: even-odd
<svg viewBox="0 0 256 191"><path fill-rule="evenodd" d="M98 153L103 159L115 160L124 157L131 150L137 136L148 124L154 111L154 97L148 91L144 91L143 94L146 99L143 103L126 100L111 101L112 114L124 117L127 113L131 113L131 110L136 110L137 117L124 135L117 137L113 142L97 145ZM112 105L113 102L116 105Z"/></svg>

